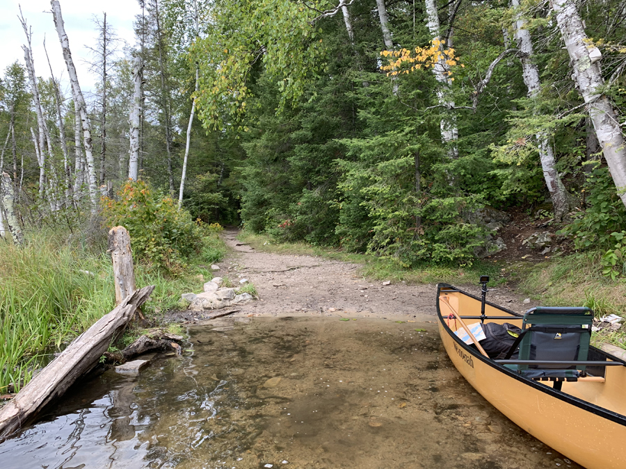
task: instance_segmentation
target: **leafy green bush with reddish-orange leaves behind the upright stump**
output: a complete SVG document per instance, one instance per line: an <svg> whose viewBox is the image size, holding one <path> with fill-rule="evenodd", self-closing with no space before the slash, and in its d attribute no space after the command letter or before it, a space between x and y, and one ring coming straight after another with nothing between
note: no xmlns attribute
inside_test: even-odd
<svg viewBox="0 0 626 469"><path fill-rule="evenodd" d="M102 199L107 226L130 233L137 258L159 268L175 268L202 248L202 231L171 197L155 193L144 181L129 181L118 199Z"/></svg>

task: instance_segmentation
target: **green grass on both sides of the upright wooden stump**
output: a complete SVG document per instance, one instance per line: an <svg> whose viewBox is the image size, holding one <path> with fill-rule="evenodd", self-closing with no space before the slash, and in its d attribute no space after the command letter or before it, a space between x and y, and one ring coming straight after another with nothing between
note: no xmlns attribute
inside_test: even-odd
<svg viewBox="0 0 626 469"><path fill-rule="evenodd" d="M0 239L0 394L10 384L19 390L43 355L63 349L115 307L113 267L102 245L67 242L56 233L27 235L21 248ZM161 322L181 293L202 288L199 274L209 272L201 263L225 254L216 233L204 241L198 258L177 274L135 265L137 286L155 286L143 306L152 322Z"/></svg>

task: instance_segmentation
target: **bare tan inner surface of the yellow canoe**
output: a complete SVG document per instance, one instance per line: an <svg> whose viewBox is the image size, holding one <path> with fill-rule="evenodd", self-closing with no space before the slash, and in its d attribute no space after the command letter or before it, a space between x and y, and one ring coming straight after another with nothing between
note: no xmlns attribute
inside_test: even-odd
<svg viewBox="0 0 626 469"><path fill-rule="evenodd" d="M465 319L465 324L470 326L475 322L480 321L481 315L481 299L474 297L469 293L465 293L452 286L440 285L440 298L442 295L446 295L448 302L461 316L476 316L476 319ZM488 296L489 297L489 296ZM446 317L450 313L449 306L442 301L438 301L439 311L444 324L448 324L452 331L461 328L458 321L447 320ZM522 315L516 314L513 311L509 311L506 308L490 304L485 304L485 315L487 316L509 316L511 319L506 320L485 320L485 322L497 322L502 324L509 322L515 324L518 327L522 326ZM480 352L476 351L476 354ZM589 360L593 361L620 361L616 357L603 352L600 349L591 347L589 351ZM492 362L495 363L495 362ZM497 365L501 366L501 365ZM593 367L588 368L588 375L604 377L604 382L593 381L575 381L575 382L563 382L562 392L572 397L577 397L580 400L586 401L590 404L602 407L608 411L618 413L620 415L626 415L626 366L607 366L607 367ZM550 381L536 381L542 386L552 387ZM556 391L555 391L556 392Z"/></svg>

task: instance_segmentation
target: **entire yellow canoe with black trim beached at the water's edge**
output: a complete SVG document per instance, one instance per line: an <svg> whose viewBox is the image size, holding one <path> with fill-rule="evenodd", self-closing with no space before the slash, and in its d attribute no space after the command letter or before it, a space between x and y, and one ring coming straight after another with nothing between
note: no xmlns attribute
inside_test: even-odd
<svg viewBox="0 0 626 469"><path fill-rule="evenodd" d="M455 334L463 329L460 335L466 335L464 332L481 322L481 317L485 323L508 322L522 327L522 322L526 324L523 315L490 302L485 302L483 313L481 298L447 283L438 285L437 296L439 330L446 352L486 400L529 434L587 469L626 468L625 361L589 347L586 361L579 362L587 366L577 366L586 371L576 379L560 381L559 390L555 381L524 375L520 368L528 363L490 359L479 347L466 344ZM539 365L535 367L566 362L536 363Z"/></svg>

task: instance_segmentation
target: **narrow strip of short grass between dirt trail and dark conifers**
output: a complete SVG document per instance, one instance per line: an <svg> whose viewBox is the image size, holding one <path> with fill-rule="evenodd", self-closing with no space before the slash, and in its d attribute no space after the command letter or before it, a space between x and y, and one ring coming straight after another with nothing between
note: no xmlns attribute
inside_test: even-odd
<svg viewBox="0 0 626 469"><path fill-rule="evenodd" d="M270 236L241 231L238 236L258 251L274 254L295 254L299 256L321 256L337 261L351 262L362 265L360 274L376 280L406 281L406 283L438 283L448 282L455 285L476 285L479 276L489 275L490 286L505 282L500 263L476 261L472 266L446 267L440 265L424 265L421 268L407 269L391 258L380 258L371 254L354 254L340 249L307 245L303 242L276 242Z"/></svg>

